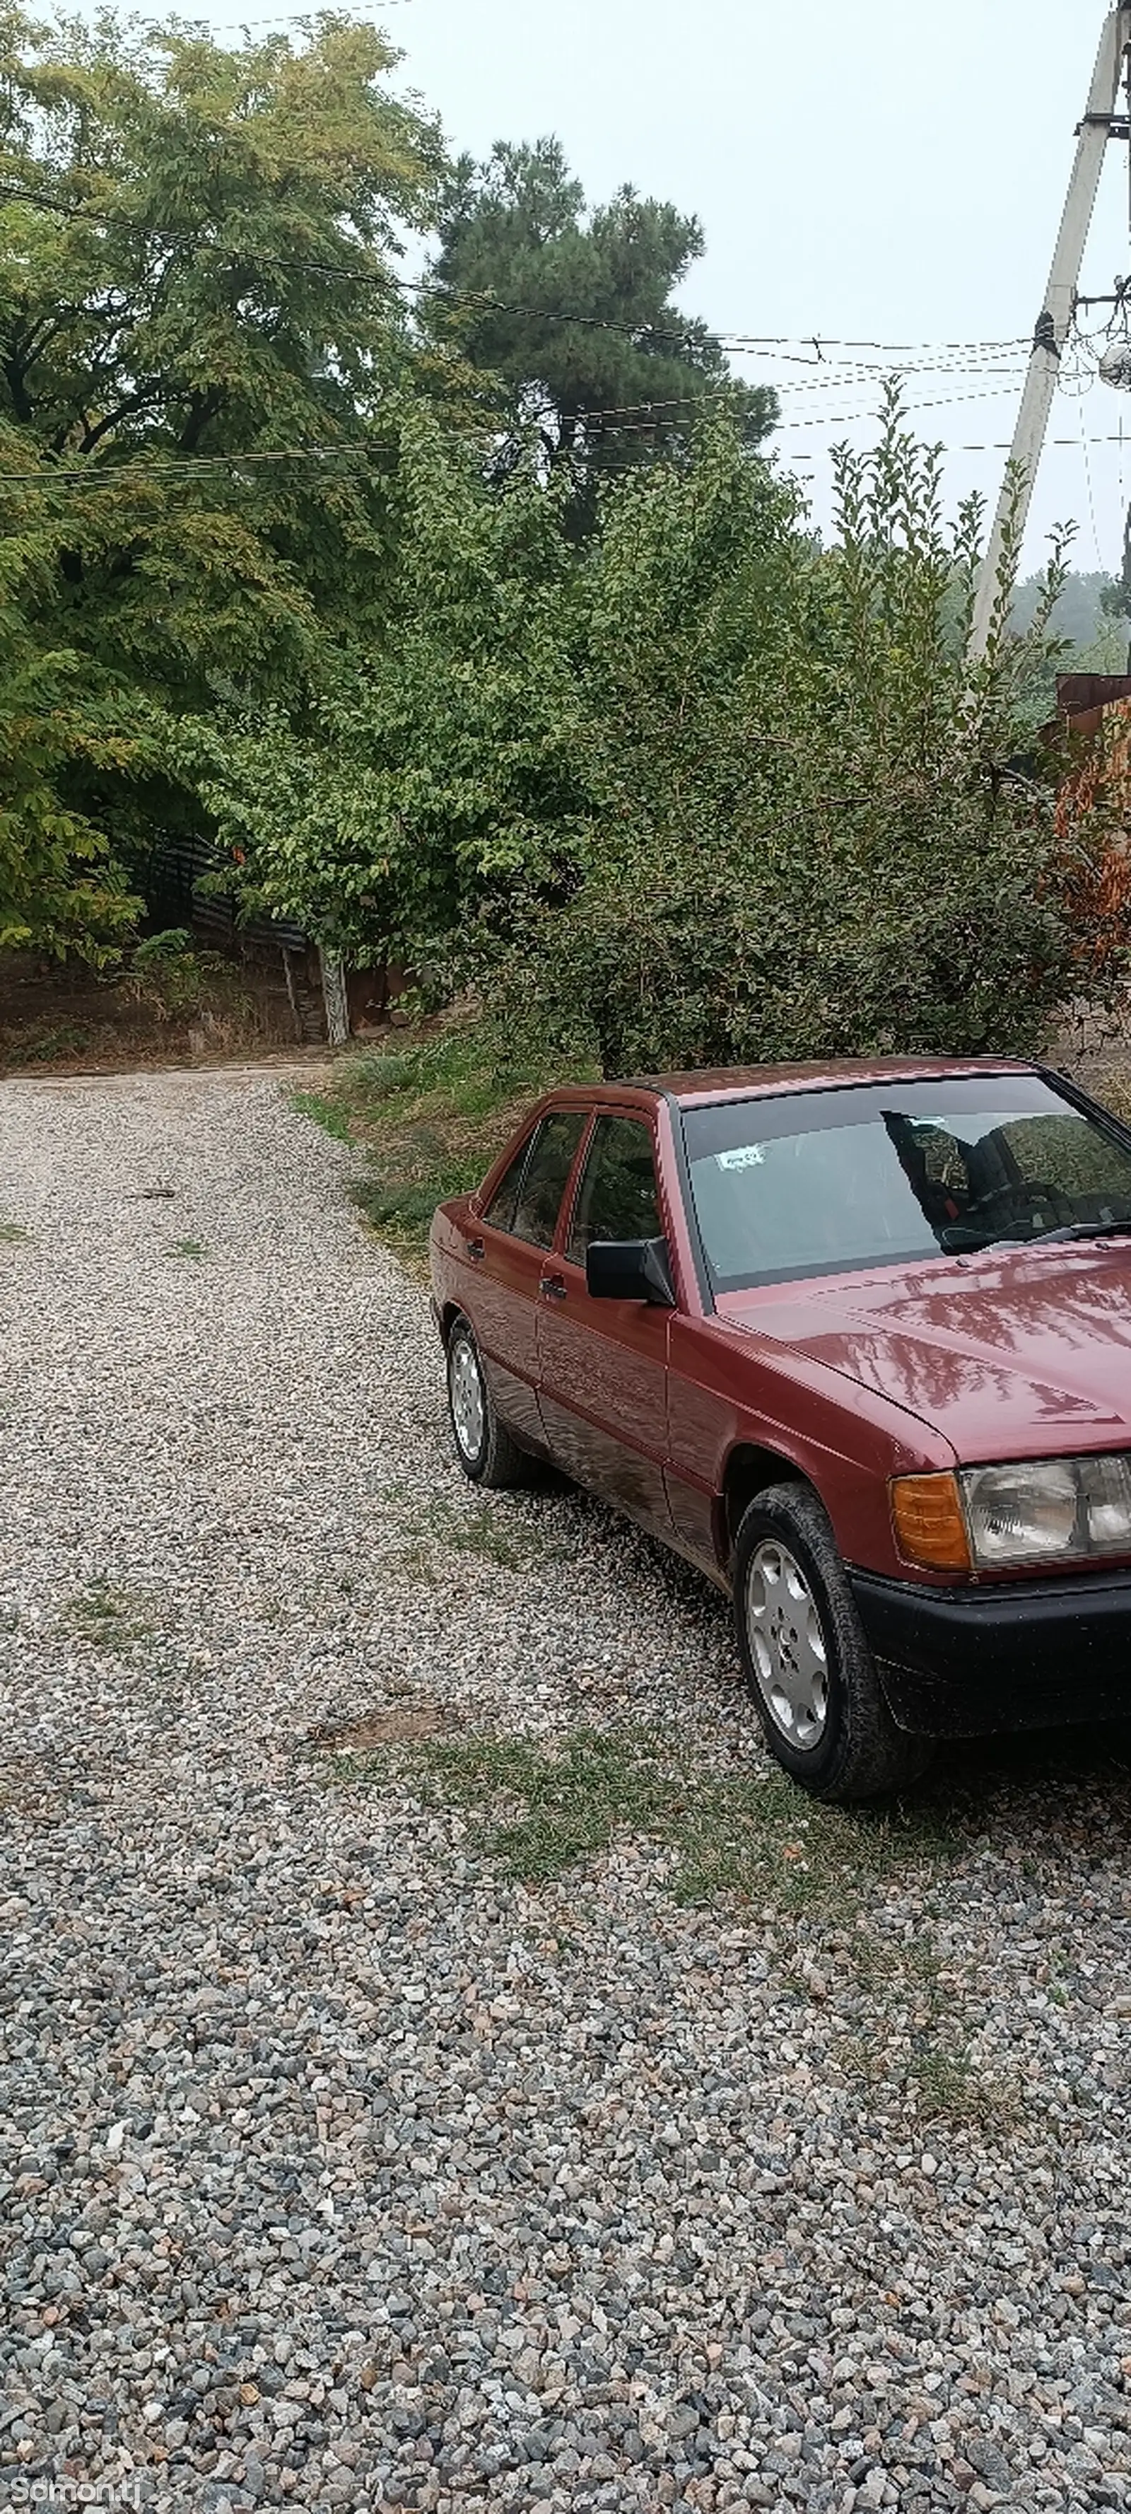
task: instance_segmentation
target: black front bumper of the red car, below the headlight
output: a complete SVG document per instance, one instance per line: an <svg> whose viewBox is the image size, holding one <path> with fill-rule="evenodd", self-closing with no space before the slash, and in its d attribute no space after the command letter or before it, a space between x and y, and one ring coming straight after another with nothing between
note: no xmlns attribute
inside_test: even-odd
<svg viewBox="0 0 1131 2514"><path fill-rule="evenodd" d="M1131 1715L1131 1571L990 1589L850 1579L892 1717L920 1737Z"/></svg>

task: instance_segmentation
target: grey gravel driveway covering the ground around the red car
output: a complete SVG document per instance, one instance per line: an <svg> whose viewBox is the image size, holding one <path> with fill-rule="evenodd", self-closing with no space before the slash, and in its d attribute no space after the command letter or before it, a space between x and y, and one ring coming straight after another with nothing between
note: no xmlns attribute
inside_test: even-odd
<svg viewBox="0 0 1131 2514"><path fill-rule="evenodd" d="M276 1079L0 1086L0 2509L1126 2504L1123 1765L968 1755L867 1963L850 1883L525 1888L327 1770L430 1704L757 1755L691 1574L555 1493L483 1546L349 1161Z"/></svg>

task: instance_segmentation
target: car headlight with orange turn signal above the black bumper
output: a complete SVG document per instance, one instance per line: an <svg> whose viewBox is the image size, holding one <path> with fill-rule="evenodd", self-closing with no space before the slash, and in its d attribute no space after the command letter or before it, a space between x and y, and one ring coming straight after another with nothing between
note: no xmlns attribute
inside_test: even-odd
<svg viewBox="0 0 1131 2514"><path fill-rule="evenodd" d="M1131 1554L1131 1456L900 1476L892 1521L905 1561L932 1571Z"/></svg>

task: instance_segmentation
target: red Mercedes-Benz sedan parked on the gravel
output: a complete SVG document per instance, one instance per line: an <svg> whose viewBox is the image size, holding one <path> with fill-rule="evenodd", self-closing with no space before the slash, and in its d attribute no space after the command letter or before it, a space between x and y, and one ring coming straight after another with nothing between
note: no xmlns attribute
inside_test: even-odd
<svg viewBox="0 0 1131 2514"><path fill-rule="evenodd" d="M1131 1704L1131 1129L880 1061L553 1091L432 1222L460 1466L550 1458L734 1599L819 1798Z"/></svg>

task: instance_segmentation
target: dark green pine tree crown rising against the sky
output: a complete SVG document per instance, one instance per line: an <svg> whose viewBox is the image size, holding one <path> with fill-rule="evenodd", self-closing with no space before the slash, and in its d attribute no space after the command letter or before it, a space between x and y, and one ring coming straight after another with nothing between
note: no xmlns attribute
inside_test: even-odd
<svg viewBox="0 0 1131 2514"><path fill-rule="evenodd" d="M726 407L746 445L777 422L774 392L739 385L719 339L671 302L701 251L699 219L631 186L586 211L553 138L500 141L485 166L455 168L430 322L498 380L503 460L535 422L588 523L593 478L676 455L704 407Z"/></svg>

